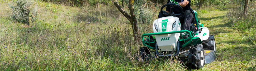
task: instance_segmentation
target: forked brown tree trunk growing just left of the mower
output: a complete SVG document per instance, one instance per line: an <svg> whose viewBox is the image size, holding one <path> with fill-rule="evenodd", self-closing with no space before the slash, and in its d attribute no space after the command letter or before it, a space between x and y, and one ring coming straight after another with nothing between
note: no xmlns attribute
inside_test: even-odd
<svg viewBox="0 0 256 71"><path fill-rule="evenodd" d="M138 22L136 15L134 13L134 7L133 7L134 0L129 0L128 8L130 10L130 15L124 11L124 9L118 4L118 1L116 0L114 2L114 5L118 8L118 10L130 21L133 29L133 39L134 41L138 41Z"/></svg>

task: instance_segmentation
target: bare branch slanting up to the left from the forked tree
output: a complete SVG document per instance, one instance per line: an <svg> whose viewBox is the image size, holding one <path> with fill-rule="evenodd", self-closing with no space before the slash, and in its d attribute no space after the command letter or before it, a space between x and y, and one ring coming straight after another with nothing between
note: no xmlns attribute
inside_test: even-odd
<svg viewBox="0 0 256 71"><path fill-rule="evenodd" d="M114 5L129 21L132 21L132 17L126 11L124 11L124 9L118 4L116 0L114 1Z"/></svg>

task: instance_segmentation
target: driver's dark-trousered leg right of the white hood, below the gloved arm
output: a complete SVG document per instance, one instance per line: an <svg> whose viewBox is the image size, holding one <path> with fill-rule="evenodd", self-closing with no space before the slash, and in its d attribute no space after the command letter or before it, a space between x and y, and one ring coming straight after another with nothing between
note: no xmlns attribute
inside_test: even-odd
<svg viewBox="0 0 256 71"><path fill-rule="evenodd" d="M191 13L191 11L186 10L184 12L184 22L183 22L183 28L181 30L188 30L190 29L190 25L193 19L193 14Z"/></svg>

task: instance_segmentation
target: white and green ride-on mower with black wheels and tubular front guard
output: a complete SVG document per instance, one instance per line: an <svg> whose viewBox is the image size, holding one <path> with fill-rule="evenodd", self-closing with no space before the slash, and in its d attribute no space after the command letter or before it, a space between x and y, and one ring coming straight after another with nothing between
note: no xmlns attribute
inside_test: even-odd
<svg viewBox="0 0 256 71"><path fill-rule="evenodd" d="M173 12L177 6L180 14ZM163 12L163 8L170 7L170 12ZM177 10L177 9L175 9ZM192 68L202 68L216 58L216 45L213 35L200 23L197 12L190 8L194 15L190 30L180 30L182 27L178 16L183 14L181 6L168 3L161 7L161 13L166 17L158 18L153 23L154 33L143 34L140 55L137 59L145 61L155 57L177 57L179 60L191 64ZM184 37L187 36L187 37ZM146 39L144 39L146 38ZM154 51L151 51L153 49Z"/></svg>

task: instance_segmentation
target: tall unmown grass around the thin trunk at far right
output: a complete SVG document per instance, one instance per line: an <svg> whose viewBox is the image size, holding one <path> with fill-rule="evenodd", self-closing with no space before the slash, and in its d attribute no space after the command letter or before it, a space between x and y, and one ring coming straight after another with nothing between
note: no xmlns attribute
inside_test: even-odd
<svg viewBox="0 0 256 71"><path fill-rule="evenodd" d="M236 28L248 32L249 36L256 36L256 2L251 1L248 6L248 15L243 14L244 4L234 6L226 14L227 21Z"/></svg>

